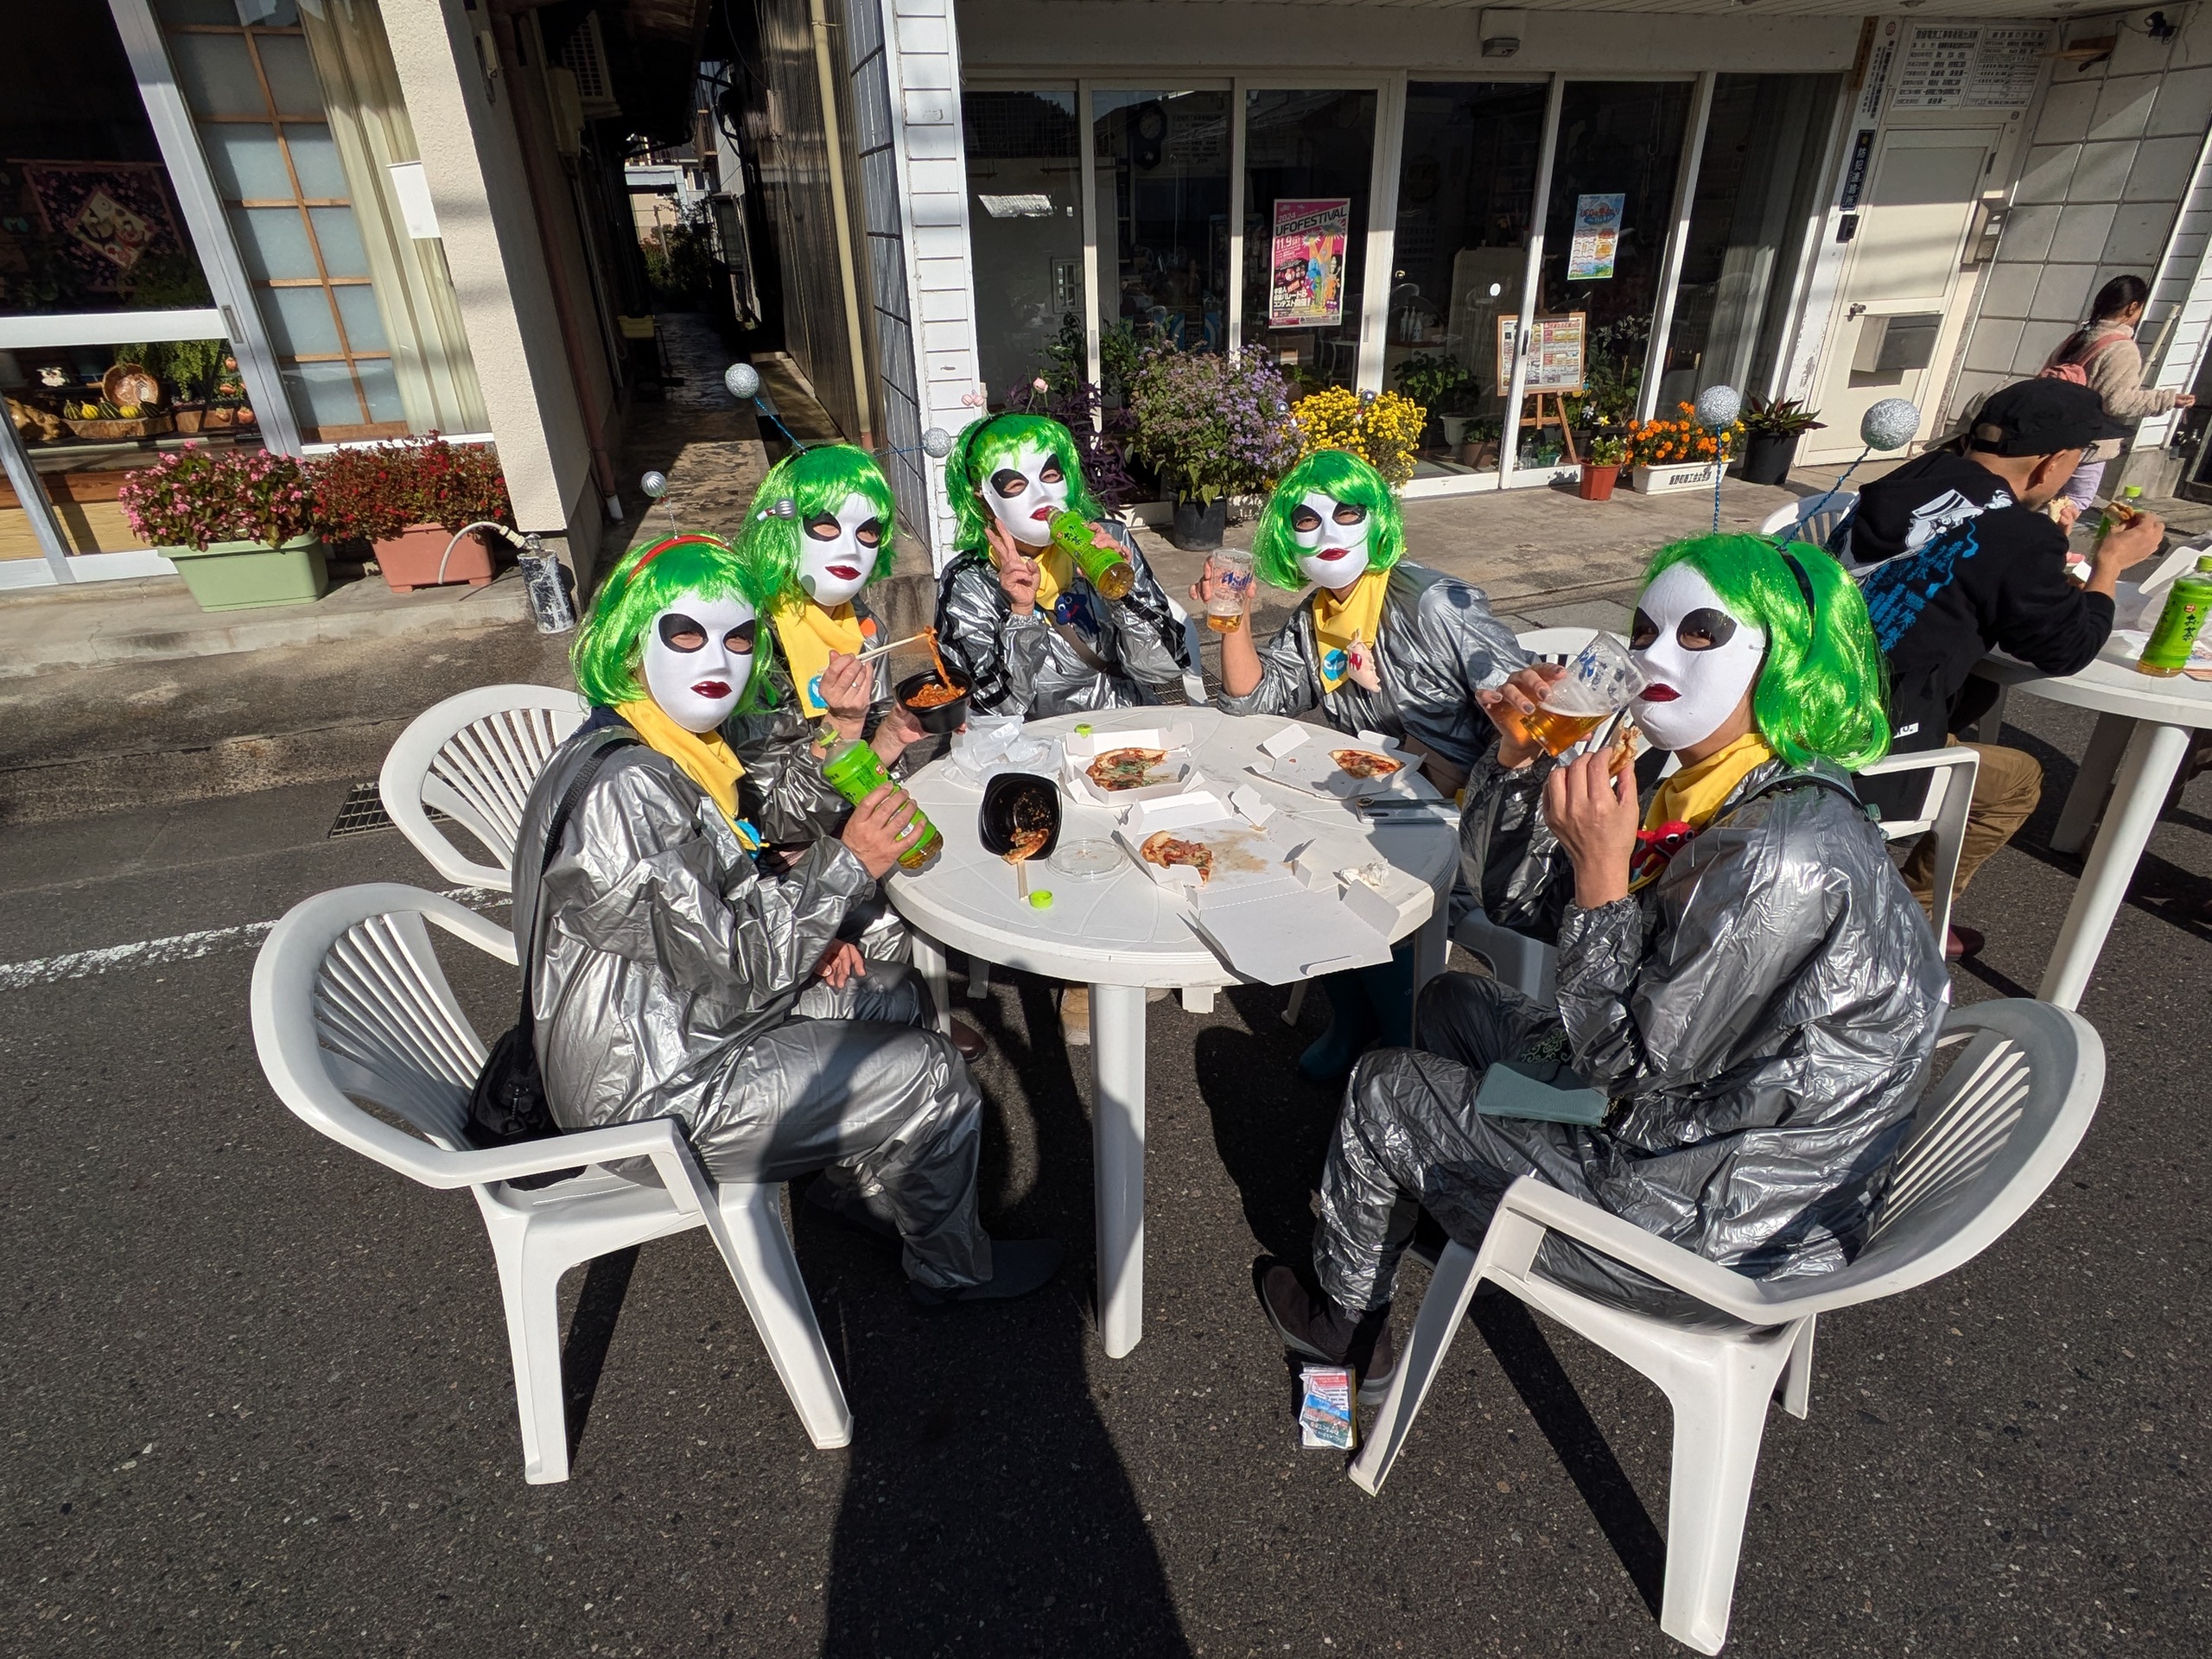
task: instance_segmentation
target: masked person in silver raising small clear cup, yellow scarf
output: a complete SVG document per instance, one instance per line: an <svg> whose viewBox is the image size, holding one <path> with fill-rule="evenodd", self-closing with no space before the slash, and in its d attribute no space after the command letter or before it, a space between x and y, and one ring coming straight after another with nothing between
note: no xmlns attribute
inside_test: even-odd
<svg viewBox="0 0 2212 1659"><path fill-rule="evenodd" d="M1405 520L1389 482L1358 456L1321 449L1301 460L1261 513L1252 568L1274 588L1314 593L1265 648L1245 624L1221 635L1217 699L1230 714L1298 717L1321 710L1338 732L1380 732L1422 757L1447 796L1498 734L1475 706L1528 661L1491 615L1482 588L1405 560ZM1194 604L1219 573L1208 564ZM1389 962L1321 980L1329 1029L1298 1057L1316 1082L1336 1082L1374 1042L1407 1042L1413 947Z"/></svg>

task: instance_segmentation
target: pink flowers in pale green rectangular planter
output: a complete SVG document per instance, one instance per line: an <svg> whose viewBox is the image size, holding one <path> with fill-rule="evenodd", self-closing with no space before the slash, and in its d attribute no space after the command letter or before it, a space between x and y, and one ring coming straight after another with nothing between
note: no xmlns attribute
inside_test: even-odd
<svg viewBox="0 0 2212 1659"><path fill-rule="evenodd" d="M314 493L290 456L186 445L135 471L115 500L175 560L201 611L305 604L330 588Z"/></svg>

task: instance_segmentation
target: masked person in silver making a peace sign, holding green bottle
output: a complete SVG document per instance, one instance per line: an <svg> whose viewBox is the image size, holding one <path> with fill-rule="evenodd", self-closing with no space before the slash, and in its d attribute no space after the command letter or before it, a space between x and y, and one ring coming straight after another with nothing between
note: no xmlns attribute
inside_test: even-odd
<svg viewBox="0 0 2212 1659"><path fill-rule="evenodd" d="M1084 482L1075 438L1046 416L978 420L945 462L958 553L938 580L938 648L984 714L1077 714L1157 703L1190 668L1183 624L1137 538ZM1075 511L1113 538L1135 571L1104 597L1064 551L1051 518Z"/></svg>

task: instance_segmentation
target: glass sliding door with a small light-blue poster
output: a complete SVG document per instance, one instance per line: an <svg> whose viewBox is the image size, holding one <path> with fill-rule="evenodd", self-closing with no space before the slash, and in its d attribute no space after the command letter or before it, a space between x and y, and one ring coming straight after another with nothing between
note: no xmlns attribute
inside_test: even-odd
<svg viewBox="0 0 2212 1659"><path fill-rule="evenodd" d="M1571 80L1559 100L1535 312L1588 319L1586 396L1604 425L1628 420L1644 387L1690 93L1690 82ZM1562 449L1557 425L1528 427L1517 465L1548 467Z"/></svg>

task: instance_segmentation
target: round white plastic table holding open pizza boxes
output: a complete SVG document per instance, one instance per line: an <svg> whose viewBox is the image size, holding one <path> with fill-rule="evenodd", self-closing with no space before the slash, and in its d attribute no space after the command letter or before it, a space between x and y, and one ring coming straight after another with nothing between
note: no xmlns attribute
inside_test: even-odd
<svg viewBox="0 0 2212 1659"><path fill-rule="evenodd" d="M1385 860L1391 869L1383 896L1398 905L1391 942L1418 931L1416 989L1444 967L1458 825L1440 816L1367 823L1343 803L1254 776L1248 768L1261 752L1261 739L1274 737L1290 721L1234 719L1212 708L1115 708L1033 721L1029 730L1057 737L1077 723L1097 732L1126 732L1179 721L1190 721L1192 761L1217 796L1237 785L1254 785L1292 821L1285 825L1287 841L1314 841L1318 863L1327 869ZM1327 737L1329 732L1314 730L1310 741ZM1416 783L1433 794L1427 781ZM1126 856L1110 876L1088 880L1033 863L1031 891L1053 894L1048 909L1033 909L1015 898L1015 872L1006 860L982 849L980 785L962 779L949 761L933 761L907 790L942 832L945 852L922 872L894 874L887 891L914 927L914 962L936 991L940 1015L951 1018L945 995L947 947L1000 967L1091 987L1099 1336L1106 1354L1121 1358L1144 1336L1144 993L1148 987L1181 989L1183 1006L1203 1013L1219 987L1241 980L1192 931L1186 902L1157 887ZM1077 805L1064 790L1062 807L1060 845L1110 841L1113 812Z"/></svg>

